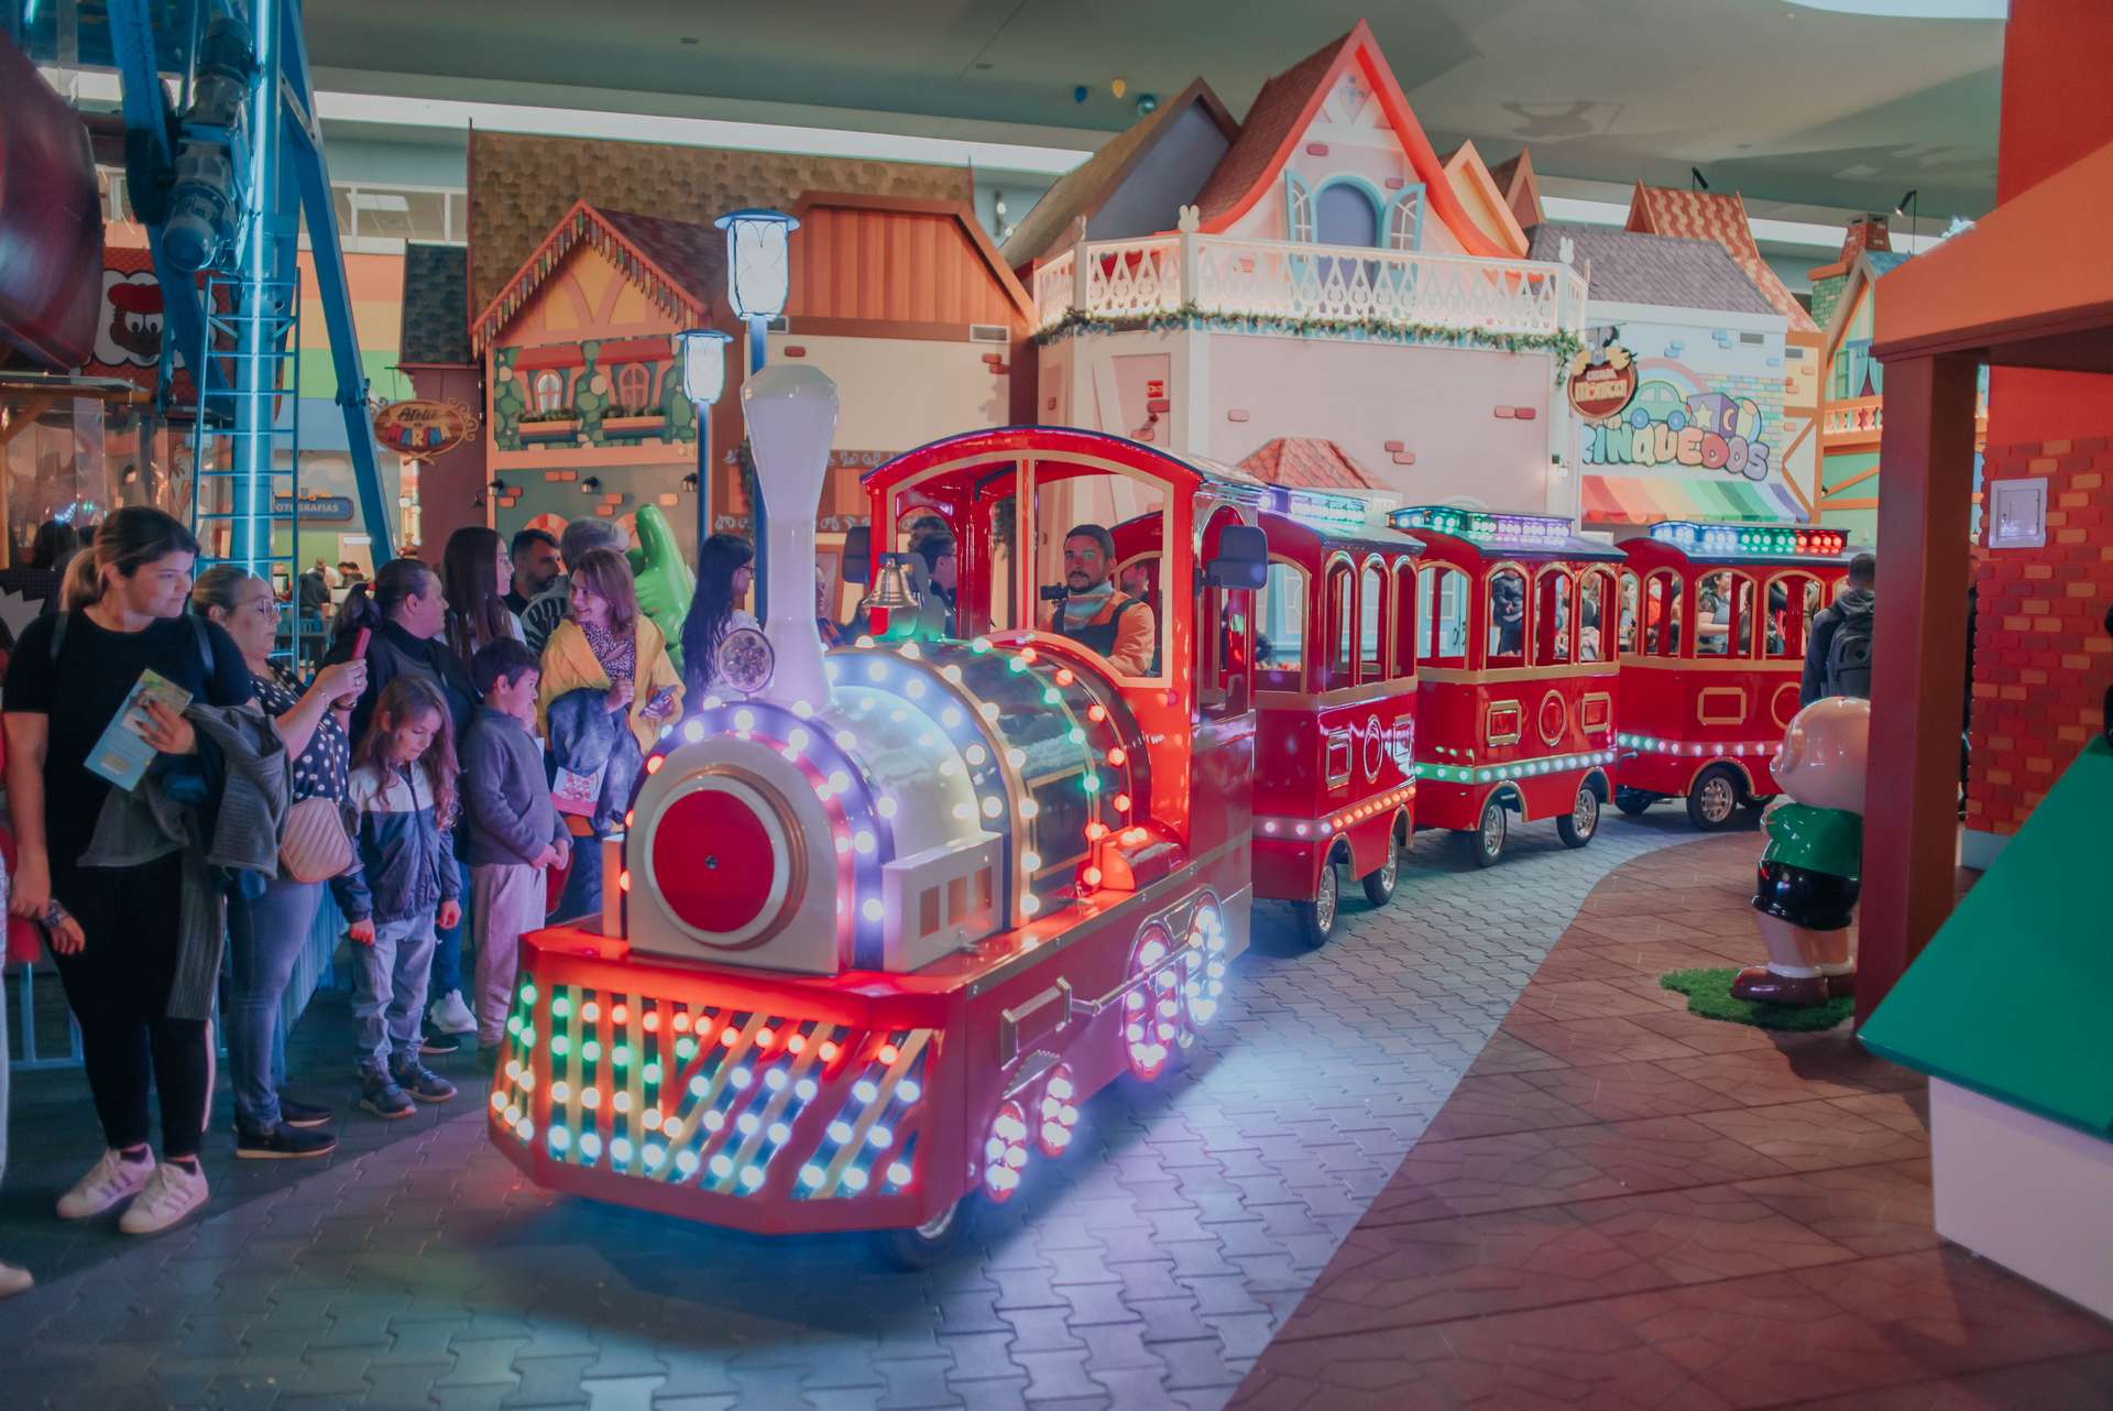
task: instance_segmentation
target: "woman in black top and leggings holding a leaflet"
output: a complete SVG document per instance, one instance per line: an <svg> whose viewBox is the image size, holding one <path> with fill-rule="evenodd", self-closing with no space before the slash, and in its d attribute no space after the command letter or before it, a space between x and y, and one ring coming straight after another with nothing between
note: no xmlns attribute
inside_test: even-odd
<svg viewBox="0 0 2113 1411"><path fill-rule="evenodd" d="M108 1151L59 1198L85 1219L127 1200L120 1229L154 1234L205 1204L199 1143L213 1094L207 1020L169 1016L182 853L131 868L85 868L80 853L110 782L87 767L139 674L192 697L241 706L254 691L228 634L184 617L197 541L158 509L104 520L68 570L72 613L30 623L6 676L6 788L21 849L11 910L44 921L66 999L80 1022L89 1090ZM150 708L144 737L190 754L190 722ZM163 1160L148 1149L148 1090L161 1092Z"/></svg>

